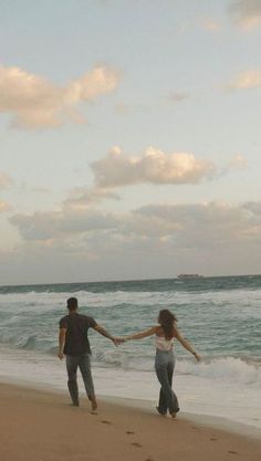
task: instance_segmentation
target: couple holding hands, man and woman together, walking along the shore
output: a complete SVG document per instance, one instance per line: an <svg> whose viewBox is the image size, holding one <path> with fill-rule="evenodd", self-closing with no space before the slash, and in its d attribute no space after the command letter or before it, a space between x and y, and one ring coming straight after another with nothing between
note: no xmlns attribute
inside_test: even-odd
<svg viewBox="0 0 261 461"><path fill-rule="evenodd" d="M69 314L60 321L59 333L59 358L66 356L67 387L72 398L72 405L79 407L79 388L76 371L83 377L85 390L91 401L92 412L97 409L97 401L94 391L92 370L91 370L91 347L87 337L88 328L95 329L101 335L111 339L116 346L130 339L143 339L148 336L155 337L155 370L160 384L159 400L157 411L159 415L169 415L175 418L179 411L176 394L173 390L173 375L175 368L174 340L179 343L200 360L191 345L181 336L177 329L177 318L168 310L161 310L158 314L158 324L144 332L125 337L114 337L105 328L98 325L93 317L79 313L76 297L67 300Z"/></svg>

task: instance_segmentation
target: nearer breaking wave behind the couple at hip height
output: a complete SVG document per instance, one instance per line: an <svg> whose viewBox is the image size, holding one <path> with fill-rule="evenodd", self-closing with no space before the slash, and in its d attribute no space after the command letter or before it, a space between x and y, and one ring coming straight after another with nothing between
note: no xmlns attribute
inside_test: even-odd
<svg viewBox="0 0 261 461"><path fill-rule="evenodd" d="M41 355L55 355L58 350L56 338L40 337L35 334L12 336L1 335L1 344L21 350L40 353ZM123 347L104 348L104 343L96 343L93 347L93 366L100 368L115 368L134 371L154 370L154 353L152 349L124 349ZM177 376L198 377L209 380L209 385L219 381L220 385L243 385L261 389L261 362L251 357L207 357L199 364L192 358L179 357L176 363Z"/></svg>

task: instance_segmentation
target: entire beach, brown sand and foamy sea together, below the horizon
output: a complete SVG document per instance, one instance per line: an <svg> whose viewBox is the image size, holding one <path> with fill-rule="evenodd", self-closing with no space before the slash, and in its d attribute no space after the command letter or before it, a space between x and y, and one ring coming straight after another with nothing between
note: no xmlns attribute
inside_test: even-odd
<svg viewBox="0 0 261 461"><path fill-rule="evenodd" d="M202 362L174 346L177 420L156 412L153 338L119 347L90 331L98 413L70 406L59 319L80 312L115 335L170 308ZM259 461L261 277L0 287L0 461Z"/></svg>

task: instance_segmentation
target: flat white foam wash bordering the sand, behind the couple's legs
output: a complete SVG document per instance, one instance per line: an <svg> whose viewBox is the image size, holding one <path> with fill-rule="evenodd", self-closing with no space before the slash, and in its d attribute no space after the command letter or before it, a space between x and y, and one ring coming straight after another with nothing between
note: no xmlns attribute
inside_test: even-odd
<svg viewBox="0 0 261 461"><path fill-rule="evenodd" d="M175 374L174 388L181 410L225 417L261 428L260 385L251 386L244 381L244 378L239 381L238 376L242 376L244 367L248 373L250 369L253 373L253 369L246 364L238 365L240 373L234 379L231 376L231 380L227 380L220 379L221 374L217 379L217 375L212 373L213 366L216 369L222 368L225 373L226 367L221 360L218 367L217 364L206 366L202 364L201 367L199 364L198 374L191 373L194 371L191 364L180 363ZM55 356L1 348L0 369L2 381L66 391L65 366ZM159 385L153 370L93 367L93 377L97 395L148 400L152 406L157 401ZM80 390L84 394L81 378L79 383Z"/></svg>

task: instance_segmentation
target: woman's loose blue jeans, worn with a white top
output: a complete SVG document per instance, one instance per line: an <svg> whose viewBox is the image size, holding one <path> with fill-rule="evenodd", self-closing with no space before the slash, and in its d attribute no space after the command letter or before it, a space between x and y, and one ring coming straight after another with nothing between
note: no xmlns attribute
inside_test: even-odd
<svg viewBox="0 0 261 461"><path fill-rule="evenodd" d="M178 399L173 391L173 375L175 368L175 357L173 350L156 352L155 369L157 378L161 385L158 401L158 411L161 415L176 413L179 411Z"/></svg>

